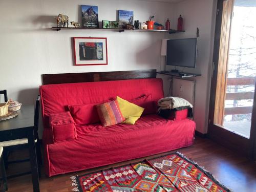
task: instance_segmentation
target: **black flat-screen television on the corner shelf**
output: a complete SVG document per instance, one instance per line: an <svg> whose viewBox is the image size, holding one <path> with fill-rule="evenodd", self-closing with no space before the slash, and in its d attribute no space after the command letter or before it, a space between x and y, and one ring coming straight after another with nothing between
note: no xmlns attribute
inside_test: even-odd
<svg viewBox="0 0 256 192"><path fill-rule="evenodd" d="M195 68L197 38L167 40L166 65Z"/></svg>

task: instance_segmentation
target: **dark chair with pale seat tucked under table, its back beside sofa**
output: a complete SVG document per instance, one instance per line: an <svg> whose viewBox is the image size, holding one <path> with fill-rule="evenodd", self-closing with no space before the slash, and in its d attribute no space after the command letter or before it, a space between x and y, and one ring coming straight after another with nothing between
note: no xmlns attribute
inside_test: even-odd
<svg viewBox="0 0 256 192"><path fill-rule="evenodd" d="M42 160L41 160L41 150L40 150L40 143L39 143L39 137L38 137L39 108L40 108L40 95L37 96L37 100L35 103L35 113L34 113L34 137L35 137L38 174L40 177L40 175L41 175L40 166L42 164ZM4 147L4 156L5 156L4 160L6 163L6 167L8 167L8 165L12 164L12 163L20 163L20 162L24 162L24 161L29 161L29 159L8 161L8 152L15 151L18 148L28 147L28 139L27 138L3 141L3 142L0 142L0 147L1 146ZM20 173L20 174L16 174L13 176L8 176L8 178L23 176L23 175L27 175L27 174L31 174L31 172Z"/></svg>

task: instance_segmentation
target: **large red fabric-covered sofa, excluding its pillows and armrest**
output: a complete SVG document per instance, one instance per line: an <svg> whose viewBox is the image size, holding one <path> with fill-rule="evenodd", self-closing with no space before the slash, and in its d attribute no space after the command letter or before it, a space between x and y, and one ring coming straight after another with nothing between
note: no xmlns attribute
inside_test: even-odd
<svg viewBox="0 0 256 192"><path fill-rule="evenodd" d="M160 78L49 84L40 86L40 94L45 172L48 176L150 156L193 144L194 121L167 120L156 113L141 116L135 125L103 127L99 122L76 124L73 139L54 142L56 133L49 125L50 114L68 111L68 105L97 103L115 99L116 96L132 100L150 95L157 108L158 99L164 97ZM66 131L60 133L67 134Z"/></svg>

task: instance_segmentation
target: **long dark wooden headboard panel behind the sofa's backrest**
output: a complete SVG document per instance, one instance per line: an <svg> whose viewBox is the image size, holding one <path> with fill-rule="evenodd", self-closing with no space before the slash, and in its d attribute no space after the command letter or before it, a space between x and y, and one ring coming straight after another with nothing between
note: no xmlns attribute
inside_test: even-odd
<svg viewBox="0 0 256 192"><path fill-rule="evenodd" d="M42 84L156 78L156 72L156 69L148 69L135 71L43 74Z"/></svg>

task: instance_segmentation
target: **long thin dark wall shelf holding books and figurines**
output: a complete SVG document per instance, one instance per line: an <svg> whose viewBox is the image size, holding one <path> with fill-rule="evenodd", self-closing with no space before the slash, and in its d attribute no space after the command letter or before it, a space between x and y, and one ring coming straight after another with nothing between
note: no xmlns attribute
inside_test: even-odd
<svg viewBox="0 0 256 192"><path fill-rule="evenodd" d="M60 31L62 29L71 29L71 30L104 30L104 31L118 31L119 33L124 32L124 31L139 31L139 32L164 32L164 33L169 33L169 34L173 34L173 33L180 33L180 32L185 32L185 31L176 31L173 29L168 30L143 30L143 29L100 29L100 28L95 28L95 29L87 29L87 28L73 28L73 27L52 27L52 30L56 30L56 31Z"/></svg>

